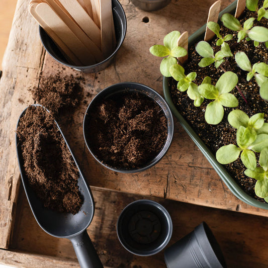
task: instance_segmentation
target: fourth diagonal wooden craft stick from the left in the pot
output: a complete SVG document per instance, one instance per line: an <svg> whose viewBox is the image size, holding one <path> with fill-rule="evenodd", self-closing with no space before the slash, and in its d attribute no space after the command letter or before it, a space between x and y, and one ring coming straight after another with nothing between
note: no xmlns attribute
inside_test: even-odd
<svg viewBox="0 0 268 268"><path fill-rule="evenodd" d="M76 0L58 0L86 35L101 48L101 31Z"/></svg>

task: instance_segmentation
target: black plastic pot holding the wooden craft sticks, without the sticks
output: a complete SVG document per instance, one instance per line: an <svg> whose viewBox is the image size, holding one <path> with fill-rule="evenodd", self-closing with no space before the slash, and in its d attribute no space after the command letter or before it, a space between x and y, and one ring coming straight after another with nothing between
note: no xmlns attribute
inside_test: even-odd
<svg viewBox="0 0 268 268"><path fill-rule="evenodd" d="M100 70L105 69L108 65L110 65L118 49L123 44L123 41L125 39L126 32L127 32L126 15L118 0L112 0L112 9L113 9L117 46L116 46L115 51L107 59L99 63L96 63L94 65L90 65L90 66L76 66L76 65L69 64L69 62L63 56L60 50L57 48L53 40L48 36L48 34L43 30L43 28L39 26L39 35L40 35L40 39L45 50L53 59L55 59L59 63L62 63L63 65L66 65L68 67L74 68L75 70L78 70L78 71L91 73L91 72L98 72Z"/></svg>

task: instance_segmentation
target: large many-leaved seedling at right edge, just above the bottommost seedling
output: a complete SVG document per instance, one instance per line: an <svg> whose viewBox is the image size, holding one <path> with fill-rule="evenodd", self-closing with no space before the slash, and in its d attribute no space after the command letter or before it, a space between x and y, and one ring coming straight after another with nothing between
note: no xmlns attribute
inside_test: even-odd
<svg viewBox="0 0 268 268"><path fill-rule="evenodd" d="M239 157L248 169L256 168L254 152L260 152L268 146L267 126L264 124L264 114L258 113L250 118L240 110L234 110L228 115L229 124L237 128L235 144L224 145L216 152L216 158L221 164L229 164Z"/></svg>

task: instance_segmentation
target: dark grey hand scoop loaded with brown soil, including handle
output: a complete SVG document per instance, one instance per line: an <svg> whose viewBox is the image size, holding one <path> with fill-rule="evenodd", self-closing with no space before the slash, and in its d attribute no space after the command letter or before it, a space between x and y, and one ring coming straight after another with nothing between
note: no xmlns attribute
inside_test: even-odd
<svg viewBox="0 0 268 268"><path fill-rule="evenodd" d="M51 113L40 105L23 111L16 147L25 193L34 217L48 234L68 238L81 267L103 267L87 235L94 200Z"/></svg>

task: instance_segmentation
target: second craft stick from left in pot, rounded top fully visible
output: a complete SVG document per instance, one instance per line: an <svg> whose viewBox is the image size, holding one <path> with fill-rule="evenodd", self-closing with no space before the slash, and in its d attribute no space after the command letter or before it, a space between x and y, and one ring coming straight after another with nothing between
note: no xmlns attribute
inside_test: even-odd
<svg viewBox="0 0 268 268"><path fill-rule="evenodd" d="M62 19L47 3L38 4L36 7L36 13L77 56L83 65L91 65L96 62L91 51L83 45L79 38L67 27Z"/></svg>

